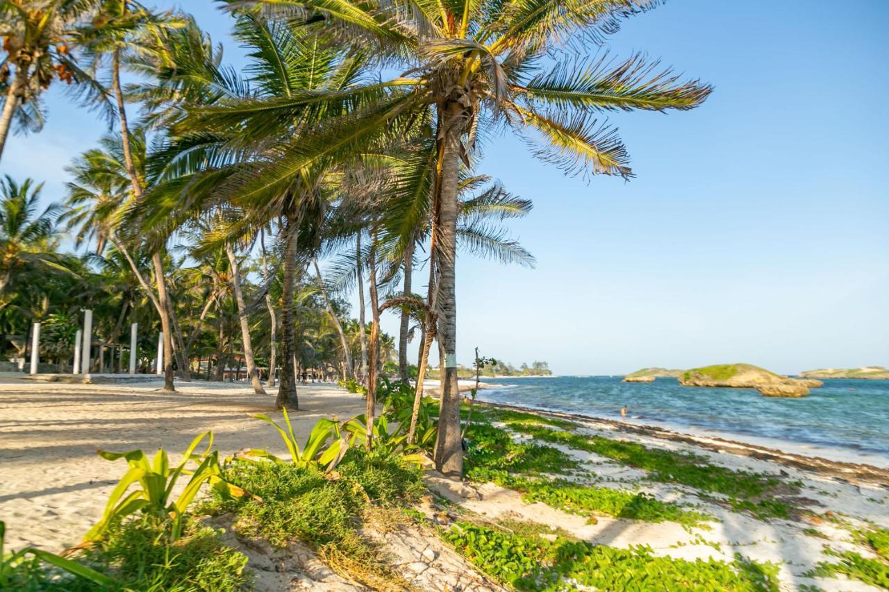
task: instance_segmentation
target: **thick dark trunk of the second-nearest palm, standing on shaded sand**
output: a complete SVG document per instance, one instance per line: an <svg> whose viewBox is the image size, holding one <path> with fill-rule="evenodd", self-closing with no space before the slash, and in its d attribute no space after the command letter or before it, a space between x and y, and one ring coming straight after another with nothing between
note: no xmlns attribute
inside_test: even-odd
<svg viewBox="0 0 889 592"><path fill-rule="evenodd" d="M296 392L296 343L295 343L295 314L293 306L293 291L296 287L296 248L298 224L296 216L290 212L287 215L287 228L285 229L284 246L284 290L282 291L281 329L284 335L281 340L281 356L283 365L281 368L281 384L275 401L276 407L282 409L299 409L300 399Z"/></svg>

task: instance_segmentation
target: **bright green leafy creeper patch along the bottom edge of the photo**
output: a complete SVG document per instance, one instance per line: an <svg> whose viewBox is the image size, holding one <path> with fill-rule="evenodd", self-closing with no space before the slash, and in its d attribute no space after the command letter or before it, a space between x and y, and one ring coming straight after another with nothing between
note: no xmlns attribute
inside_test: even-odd
<svg viewBox="0 0 889 592"><path fill-rule="evenodd" d="M777 590L771 564L739 556L732 564L652 555L650 548L593 545L559 536L509 533L467 522L443 532L463 556L495 580L519 590L699 589ZM570 582L570 583L569 583Z"/></svg>

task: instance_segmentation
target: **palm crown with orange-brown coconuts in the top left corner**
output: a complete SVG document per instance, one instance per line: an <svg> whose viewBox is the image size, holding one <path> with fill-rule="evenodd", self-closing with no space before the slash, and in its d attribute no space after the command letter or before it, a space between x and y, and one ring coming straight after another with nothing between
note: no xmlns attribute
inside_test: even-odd
<svg viewBox="0 0 889 592"><path fill-rule="evenodd" d="M75 28L92 10L88 0L0 0L0 158L13 118L21 130L37 132L44 116L40 95L56 79L76 83L92 101L104 93L92 76L77 66L74 56Z"/></svg>

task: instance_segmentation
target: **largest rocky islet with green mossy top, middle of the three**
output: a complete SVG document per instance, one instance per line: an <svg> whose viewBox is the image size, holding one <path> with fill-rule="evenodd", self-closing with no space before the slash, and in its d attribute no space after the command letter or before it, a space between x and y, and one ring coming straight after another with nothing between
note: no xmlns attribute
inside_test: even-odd
<svg viewBox="0 0 889 592"><path fill-rule="evenodd" d="M693 368L679 375L685 387L756 388L765 396L806 396L821 380L792 379L753 364L717 364Z"/></svg>

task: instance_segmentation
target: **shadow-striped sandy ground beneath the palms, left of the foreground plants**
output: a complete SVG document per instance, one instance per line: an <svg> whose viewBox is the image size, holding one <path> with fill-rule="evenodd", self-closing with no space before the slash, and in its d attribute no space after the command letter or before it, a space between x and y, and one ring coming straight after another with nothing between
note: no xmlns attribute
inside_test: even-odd
<svg viewBox="0 0 889 592"><path fill-rule="evenodd" d="M7 549L58 551L80 541L125 470L124 460L97 456L99 448L153 453L164 445L175 461L192 438L212 430L221 456L245 446L285 452L273 428L249 417L280 419L274 396L253 395L245 383L177 382L176 393L158 386L0 377L0 519ZM299 394L302 409L291 419L300 441L319 417L364 412L361 396L334 385L301 387Z"/></svg>

